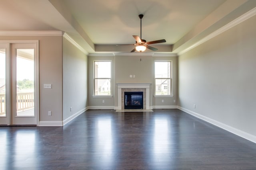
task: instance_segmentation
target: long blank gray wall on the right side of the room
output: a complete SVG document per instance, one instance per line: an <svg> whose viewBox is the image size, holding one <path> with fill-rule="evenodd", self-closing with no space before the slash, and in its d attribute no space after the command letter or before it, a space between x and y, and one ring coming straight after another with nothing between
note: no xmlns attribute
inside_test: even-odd
<svg viewBox="0 0 256 170"><path fill-rule="evenodd" d="M255 23L256 16L178 57L178 106L256 135Z"/></svg>

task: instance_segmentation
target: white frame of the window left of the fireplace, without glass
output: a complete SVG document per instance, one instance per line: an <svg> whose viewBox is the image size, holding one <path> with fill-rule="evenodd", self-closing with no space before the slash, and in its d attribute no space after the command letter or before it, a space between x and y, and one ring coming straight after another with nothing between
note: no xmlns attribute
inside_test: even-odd
<svg viewBox="0 0 256 170"><path fill-rule="evenodd" d="M110 77L95 77L95 62L110 62ZM110 79L110 95L96 95L95 94L95 81L96 80L103 80L103 79ZM112 98L112 61L111 60L94 60L93 61L93 98Z"/></svg>

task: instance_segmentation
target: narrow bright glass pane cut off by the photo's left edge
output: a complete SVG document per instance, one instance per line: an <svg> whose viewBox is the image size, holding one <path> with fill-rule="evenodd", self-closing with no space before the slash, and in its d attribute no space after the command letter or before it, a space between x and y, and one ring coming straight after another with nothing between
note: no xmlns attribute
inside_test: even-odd
<svg viewBox="0 0 256 170"><path fill-rule="evenodd" d="M6 93L5 93L5 82L6 82L6 72L5 72L5 49L0 49L0 116L6 116L5 104L6 104Z"/></svg>

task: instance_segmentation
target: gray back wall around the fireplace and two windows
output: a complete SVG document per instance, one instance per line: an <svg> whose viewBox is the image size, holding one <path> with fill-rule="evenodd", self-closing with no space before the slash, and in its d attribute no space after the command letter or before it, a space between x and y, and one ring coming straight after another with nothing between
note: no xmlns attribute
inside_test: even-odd
<svg viewBox="0 0 256 170"><path fill-rule="evenodd" d="M112 61L112 98L93 98L93 61ZM173 66L173 98L154 98L152 87L154 82L154 60L172 61ZM135 78L130 78L135 75ZM151 83L150 86L150 106L170 107L176 106L173 102L177 98L177 57L162 55L162 57L152 57L152 55L116 55L116 56L89 56L88 57L88 106L90 108L114 108L118 106L118 94L116 83ZM164 103L162 103L162 99ZM105 100L105 103L102 103Z"/></svg>

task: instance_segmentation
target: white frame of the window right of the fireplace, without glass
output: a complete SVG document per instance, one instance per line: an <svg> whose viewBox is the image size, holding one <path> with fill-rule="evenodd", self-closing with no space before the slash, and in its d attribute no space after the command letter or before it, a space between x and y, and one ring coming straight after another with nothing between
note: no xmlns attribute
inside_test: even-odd
<svg viewBox="0 0 256 170"><path fill-rule="evenodd" d="M155 68L155 63L156 62L170 62L170 78L168 77L164 77L164 78L156 78L156 68ZM171 60L155 60L154 61L154 98L169 98L169 97L173 97L172 95L172 61ZM167 79L170 80L170 94L156 94L156 79Z"/></svg>

